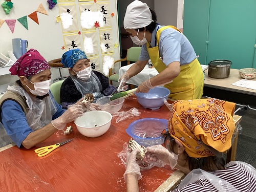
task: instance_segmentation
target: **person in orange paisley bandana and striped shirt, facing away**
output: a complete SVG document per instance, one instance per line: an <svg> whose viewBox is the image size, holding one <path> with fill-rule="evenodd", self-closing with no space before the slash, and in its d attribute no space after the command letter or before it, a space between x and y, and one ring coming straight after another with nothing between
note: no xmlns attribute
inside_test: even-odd
<svg viewBox="0 0 256 192"><path fill-rule="evenodd" d="M231 161L224 153L232 144L236 129L232 119L235 104L217 100L179 100L164 134L165 145L147 147L146 158L162 160L188 174L174 191L256 191L256 170ZM124 179L127 191L139 191L140 167L137 151L127 154Z"/></svg>

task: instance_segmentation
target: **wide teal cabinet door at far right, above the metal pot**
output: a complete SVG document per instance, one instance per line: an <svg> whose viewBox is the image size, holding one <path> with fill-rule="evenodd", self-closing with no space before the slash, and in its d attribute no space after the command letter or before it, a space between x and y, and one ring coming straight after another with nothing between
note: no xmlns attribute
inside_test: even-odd
<svg viewBox="0 0 256 192"><path fill-rule="evenodd" d="M210 1L207 63L215 59L228 59L232 61L233 69L253 66L255 8L255 0Z"/></svg>

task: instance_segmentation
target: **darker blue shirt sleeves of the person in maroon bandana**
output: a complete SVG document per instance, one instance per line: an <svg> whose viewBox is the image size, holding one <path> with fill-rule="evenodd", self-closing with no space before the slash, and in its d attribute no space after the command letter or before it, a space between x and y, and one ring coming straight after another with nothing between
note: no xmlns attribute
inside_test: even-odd
<svg viewBox="0 0 256 192"><path fill-rule="evenodd" d="M66 111L56 101L54 101L54 104L57 107L57 112L53 115L52 119L56 119ZM22 107L15 101L7 100L2 105L1 117L8 136L20 147L24 139L33 132L28 125Z"/></svg>

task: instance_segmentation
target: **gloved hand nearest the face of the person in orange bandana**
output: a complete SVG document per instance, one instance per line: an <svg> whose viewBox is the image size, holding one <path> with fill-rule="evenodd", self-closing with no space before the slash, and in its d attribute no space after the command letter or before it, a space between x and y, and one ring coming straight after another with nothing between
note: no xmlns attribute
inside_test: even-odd
<svg viewBox="0 0 256 192"><path fill-rule="evenodd" d="M162 160L165 164L170 165L172 169L177 164L178 155L175 153L170 153L167 148L162 145L154 145L146 147L146 155L145 157L152 160L157 161Z"/></svg>

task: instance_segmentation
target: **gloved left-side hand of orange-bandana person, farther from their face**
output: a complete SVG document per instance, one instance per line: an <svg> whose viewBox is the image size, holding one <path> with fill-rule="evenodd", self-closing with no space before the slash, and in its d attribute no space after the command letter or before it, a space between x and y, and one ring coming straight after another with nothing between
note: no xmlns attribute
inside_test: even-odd
<svg viewBox="0 0 256 192"><path fill-rule="evenodd" d="M141 179L140 166L136 162L136 155L139 151L133 150L131 153L126 153L126 165L125 172L123 174L124 181L126 182L126 175L129 173L135 173L137 175L137 179Z"/></svg>

